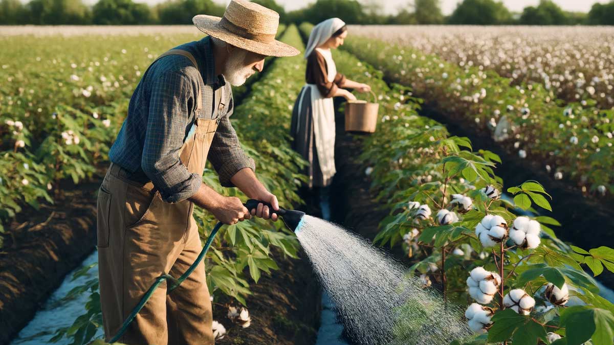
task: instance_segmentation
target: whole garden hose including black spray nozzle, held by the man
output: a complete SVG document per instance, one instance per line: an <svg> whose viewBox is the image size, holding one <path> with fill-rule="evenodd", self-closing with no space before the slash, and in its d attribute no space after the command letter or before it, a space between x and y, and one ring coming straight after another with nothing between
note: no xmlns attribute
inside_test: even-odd
<svg viewBox="0 0 614 345"><path fill-rule="evenodd" d="M279 211L274 211L273 206L271 206L271 204L265 203L264 201L254 200L254 199L247 200L247 203L243 204L243 206L247 208L248 212L251 212L253 209L256 209L256 207L258 207L258 204L263 204L264 206L268 206L269 209L271 210L271 215L278 214L282 216L282 220L284 220L284 224L286 224L286 227L288 227L292 231L296 231L298 229L300 220L303 218L303 215L305 215L305 212L284 209L282 207L279 207ZM159 277L156 278L155 282L153 282L149 290L147 290L145 295L143 295L139 303L136 304L132 312L130 312L130 315L126 317L126 319L124 320L122 324L122 327L117 332L117 334L113 338L111 338L109 343L115 343L122 337L123 333L125 333L126 330L128 330L128 326L130 326L130 324L134 320L134 317L136 317L136 314L138 314L139 311L141 311L145 303L147 303L149 298L152 297L153 292L158 288L160 284L162 284L163 281L172 282L170 287L166 289L166 293L171 293L171 291L173 291L179 285L181 285L181 283L185 281L185 279L187 279L187 277L190 276L190 274L192 274L192 272L196 269L196 266L198 266L198 264L203 260L204 255L207 254L209 247L211 247L211 243L213 242L213 239L216 238L217 232L220 230L220 228L222 228L222 225L223 225L222 222L218 222L216 226L213 227L213 230L211 231L211 234L209 234L209 237L207 238L207 241L205 242L203 249L200 251L200 254L198 254L198 257L196 257L196 260L194 260L192 265L190 265L190 267L185 271L184 274L181 275L181 277L179 277L178 279L175 279L170 274L163 273Z"/></svg>

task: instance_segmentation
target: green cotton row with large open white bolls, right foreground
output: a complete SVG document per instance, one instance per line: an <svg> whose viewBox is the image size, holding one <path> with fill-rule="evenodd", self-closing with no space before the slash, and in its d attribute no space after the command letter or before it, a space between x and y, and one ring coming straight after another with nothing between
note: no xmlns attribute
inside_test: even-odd
<svg viewBox="0 0 614 345"><path fill-rule="evenodd" d="M301 25L308 34L311 25ZM346 44L354 45L354 39ZM353 48L356 48L353 47ZM379 53L379 46L370 51ZM366 50L356 50L365 53ZM389 55L390 56L390 55ZM379 99L376 133L362 145L360 161L371 192L390 210L375 243L402 246L413 265L410 280L425 290L436 287L448 303L465 306L465 322L476 334L454 343L566 344L592 339L609 344L614 304L597 294L595 275L614 270L614 249L586 251L556 238L550 217L517 217L515 207L550 207L535 181L508 188L513 203L500 199L500 158L473 152L467 138L450 136L445 126L418 114L420 99L402 85L389 87L383 74L348 52L333 53L338 71L369 83ZM393 140L394 138L394 140ZM572 298L582 305L564 308ZM442 308L422 306L422 308ZM416 313L416 305L408 304ZM452 305L447 307L453 310ZM418 309L419 312L419 309ZM433 331L446 320L432 320ZM415 323L398 320L397 343L419 343ZM430 329L430 328L429 328ZM559 344L565 343L560 341Z"/></svg>

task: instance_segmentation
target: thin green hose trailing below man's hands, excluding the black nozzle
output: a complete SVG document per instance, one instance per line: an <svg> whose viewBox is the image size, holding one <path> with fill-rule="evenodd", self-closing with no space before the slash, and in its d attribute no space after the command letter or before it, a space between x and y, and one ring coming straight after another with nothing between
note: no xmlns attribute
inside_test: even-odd
<svg viewBox="0 0 614 345"><path fill-rule="evenodd" d="M138 314L139 311L141 311L141 309L143 308L145 303L147 303L149 298L152 297L153 292L155 291L155 289L158 288L158 285L160 285L163 281L173 282L173 285L171 285L168 289L166 289L166 293L170 293L171 291L176 289L176 287L181 285L181 283L185 281L185 279L188 276L190 276L190 274L192 274L192 272L196 269L196 266L198 266L198 264L203 260L204 255L207 254L209 247L211 247L211 242L213 242L213 239L217 235L217 231L220 230L222 225L223 225L222 222L219 222L216 224L216 226L213 228L213 231L211 231L211 235L209 235L209 237L207 238L207 242L204 244L203 250L200 251L200 254L198 254L198 257L196 258L194 263L192 263L190 268L188 268L187 271L185 271L185 273L182 274L181 277L179 277L179 279L175 279L174 277L171 277L169 274L166 274L166 273L156 278L155 282L153 282L152 286L149 288L149 290L147 290L145 295L143 295L143 297L141 298L141 301L139 301L139 304L136 304L136 307L132 309L132 312L130 313L130 315L126 318L126 320L124 320L122 324L122 328L120 328L119 332L117 332L117 334L109 341L109 343L117 342L119 338L122 337L123 333L125 333L126 330L128 330L128 326L130 326L130 324L134 320L134 317L136 317L136 314Z"/></svg>

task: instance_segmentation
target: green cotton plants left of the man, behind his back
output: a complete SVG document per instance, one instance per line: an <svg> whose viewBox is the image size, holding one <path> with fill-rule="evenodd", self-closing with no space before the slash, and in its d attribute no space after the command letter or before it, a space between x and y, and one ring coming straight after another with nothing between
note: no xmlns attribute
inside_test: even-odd
<svg viewBox="0 0 614 345"><path fill-rule="evenodd" d="M169 47L202 37L193 31L0 37L0 233L24 205L53 202L61 180L77 184L106 166L142 73Z"/></svg>

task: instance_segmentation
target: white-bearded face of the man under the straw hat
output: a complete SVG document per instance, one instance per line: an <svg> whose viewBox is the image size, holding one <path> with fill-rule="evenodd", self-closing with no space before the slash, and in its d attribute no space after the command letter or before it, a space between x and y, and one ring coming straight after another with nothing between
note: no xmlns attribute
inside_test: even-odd
<svg viewBox="0 0 614 345"><path fill-rule="evenodd" d="M262 72L265 56L234 47L224 66L223 75L232 86L241 86L255 72Z"/></svg>

